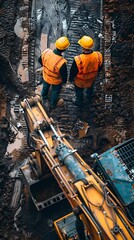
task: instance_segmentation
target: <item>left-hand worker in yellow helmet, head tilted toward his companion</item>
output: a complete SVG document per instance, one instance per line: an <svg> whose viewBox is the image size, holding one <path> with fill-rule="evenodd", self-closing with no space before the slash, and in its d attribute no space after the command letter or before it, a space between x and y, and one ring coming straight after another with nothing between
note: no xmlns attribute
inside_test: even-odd
<svg viewBox="0 0 134 240"><path fill-rule="evenodd" d="M43 67L43 88L41 92L42 100L48 98L49 88L52 86L50 106L63 106L64 100L59 99L62 84L67 82L67 61L62 53L69 47L70 42L67 37L63 36L55 42L55 49L45 49L39 62Z"/></svg>

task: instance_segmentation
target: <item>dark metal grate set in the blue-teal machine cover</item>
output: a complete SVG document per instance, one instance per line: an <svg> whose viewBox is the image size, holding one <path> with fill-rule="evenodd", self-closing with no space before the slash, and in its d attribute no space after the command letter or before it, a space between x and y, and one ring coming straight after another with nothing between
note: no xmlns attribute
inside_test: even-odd
<svg viewBox="0 0 134 240"><path fill-rule="evenodd" d="M126 173L134 179L134 139L132 142L116 149L116 151L120 157L121 164L125 164Z"/></svg>

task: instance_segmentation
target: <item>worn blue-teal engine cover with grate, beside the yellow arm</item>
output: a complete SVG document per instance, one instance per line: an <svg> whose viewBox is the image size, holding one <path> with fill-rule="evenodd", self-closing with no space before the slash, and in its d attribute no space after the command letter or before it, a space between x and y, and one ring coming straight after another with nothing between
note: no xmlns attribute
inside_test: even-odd
<svg viewBox="0 0 134 240"><path fill-rule="evenodd" d="M95 172L108 183L134 221L134 138L99 155Z"/></svg>

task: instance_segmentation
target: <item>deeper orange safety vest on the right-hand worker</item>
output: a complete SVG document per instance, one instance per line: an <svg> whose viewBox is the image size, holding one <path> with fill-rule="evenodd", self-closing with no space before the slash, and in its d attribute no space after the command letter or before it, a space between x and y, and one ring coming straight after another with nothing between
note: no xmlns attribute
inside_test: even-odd
<svg viewBox="0 0 134 240"><path fill-rule="evenodd" d="M91 87L98 74L98 68L102 65L102 54L100 52L80 54L74 59L78 68L74 84L80 88Z"/></svg>

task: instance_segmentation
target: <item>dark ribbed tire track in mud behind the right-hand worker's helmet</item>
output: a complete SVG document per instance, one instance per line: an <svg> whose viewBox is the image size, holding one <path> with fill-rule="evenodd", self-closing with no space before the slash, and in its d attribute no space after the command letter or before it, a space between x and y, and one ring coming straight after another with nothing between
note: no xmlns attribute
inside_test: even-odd
<svg viewBox="0 0 134 240"><path fill-rule="evenodd" d="M81 52L81 48L77 42L83 35L90 35L94 39L95 50L99 50L100 48L98 38L100 24L97 22L97 18L100 18L100 13L97 12L95 6L96 5L92 1L88 5L84 4L83 1L77 1L75 4L70 1L68 37L71 41L71 46L65 55L68 60L69 68L73 57Z"/></svg>

